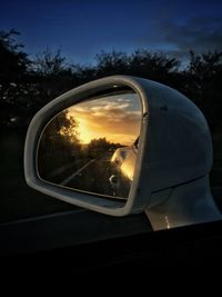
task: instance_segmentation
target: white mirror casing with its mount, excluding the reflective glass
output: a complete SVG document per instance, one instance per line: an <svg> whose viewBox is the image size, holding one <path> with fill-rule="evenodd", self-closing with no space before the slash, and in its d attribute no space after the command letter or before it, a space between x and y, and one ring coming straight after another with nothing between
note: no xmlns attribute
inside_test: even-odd
<svg viewBox="0 0 222 297"><path fill-rule="evenodd" d="M141 100L142 120L134 175L127 200L75 191L42 180L37 149L42 130L60 111L99 92L132 89ZM24 176L41 192L111 216L145 211L154 230L221 219L211 196L213 162L208 123L198 107L176 90L125 76L91 81L44 106L32 119L24 146Z"/></svg>

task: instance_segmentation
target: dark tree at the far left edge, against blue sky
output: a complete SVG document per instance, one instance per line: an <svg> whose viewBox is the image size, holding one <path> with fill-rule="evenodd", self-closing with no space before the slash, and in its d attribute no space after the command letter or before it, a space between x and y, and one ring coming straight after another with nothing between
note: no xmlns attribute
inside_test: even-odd
<svg viewBox="0 0 222 297"><path fill-rule="evenodd" d="M0 127L19 125L22 115L26 113L27 88L24 82L28 76L30 61L28 55L18 43L16 30L0 32Z"/></svg>

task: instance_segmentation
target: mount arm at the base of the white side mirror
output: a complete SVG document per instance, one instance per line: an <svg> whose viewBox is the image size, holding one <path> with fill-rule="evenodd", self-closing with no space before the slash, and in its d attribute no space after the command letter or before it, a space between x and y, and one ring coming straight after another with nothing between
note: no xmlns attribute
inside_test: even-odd
<svg viewBox="0 0 222 297"><path fill-rule="evenodd" d="M145 215L154 230L222 219L211 195L209 176L153 192L151 199L157 204L147 208Z"/></svg>

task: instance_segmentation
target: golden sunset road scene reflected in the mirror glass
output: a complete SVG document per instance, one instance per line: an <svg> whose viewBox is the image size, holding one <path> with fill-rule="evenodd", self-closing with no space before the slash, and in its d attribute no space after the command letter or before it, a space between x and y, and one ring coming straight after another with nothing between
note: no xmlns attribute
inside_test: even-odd
<svg viewBox="0 0 222 297"><path fill-rule="evenodd" d="M38 148L41 179L74 190L127 199L142 118L133 91L89 99L58 113Z"/></svg>

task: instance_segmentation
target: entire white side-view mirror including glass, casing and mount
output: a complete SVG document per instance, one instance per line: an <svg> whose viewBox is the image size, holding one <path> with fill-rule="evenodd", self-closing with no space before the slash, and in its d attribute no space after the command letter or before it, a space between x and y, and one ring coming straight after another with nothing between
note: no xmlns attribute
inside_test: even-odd
<svg viewBox="0 0 222 297"><path fill-rule="evenodd" d="M72 89L32 119L32 188L111 216L145 211L153 229L220 219L209 186L206 121L183 95L114 76Z"/></svg>

